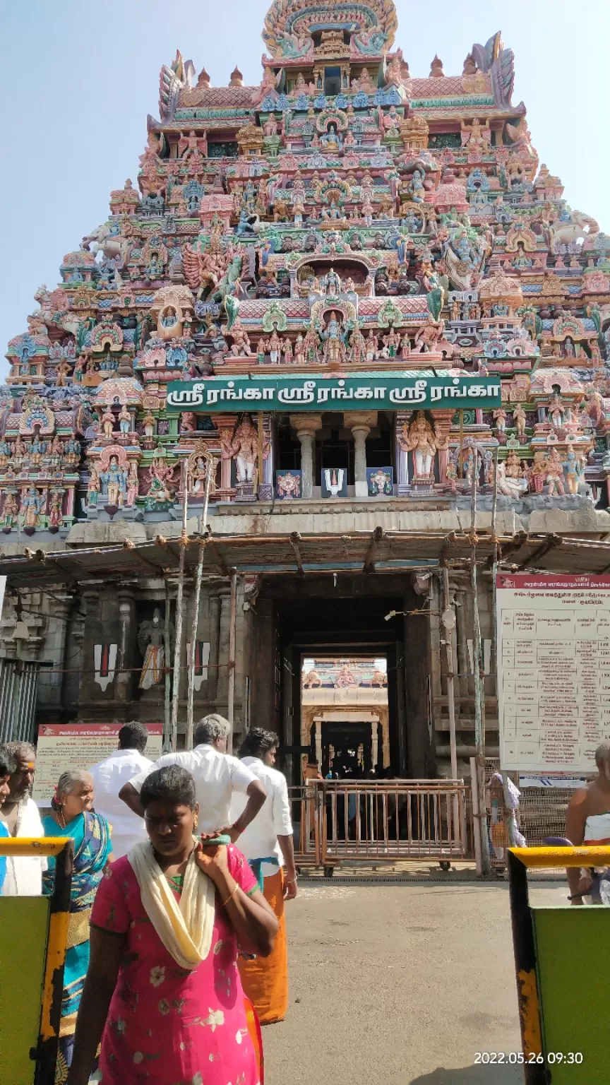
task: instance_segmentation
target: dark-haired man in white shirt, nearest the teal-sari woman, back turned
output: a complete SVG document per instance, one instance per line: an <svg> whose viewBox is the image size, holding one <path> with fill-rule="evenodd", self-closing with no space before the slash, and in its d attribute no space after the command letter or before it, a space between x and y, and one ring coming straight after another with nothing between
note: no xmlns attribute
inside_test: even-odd
<svg viewBox="0 0 610 1085"><path fill-rule="evenodd" d="M118 792L131 777L138 773L150 773L153 767L154 762L144 757L148 740L144 724L125 724L118 732L118 750L89 769L93 777L93 807L111 827L115 859L127 855L135 844L147 839L144 822L127 808Z"/></svg>

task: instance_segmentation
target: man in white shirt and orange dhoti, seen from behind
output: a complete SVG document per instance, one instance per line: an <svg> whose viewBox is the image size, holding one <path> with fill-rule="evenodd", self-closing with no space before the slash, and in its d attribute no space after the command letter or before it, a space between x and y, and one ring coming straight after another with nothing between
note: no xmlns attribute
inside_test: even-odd
<svg viewBox="0 0 610 1085"><path fill-rule="evenodd" d="M296 869L292 841L290 800L283 773L272 766L278 736L253 727L243 740L242 765L260 780L267 792L258 817L240 837L239 846L258 878L265 899L271 905L279 931L268 957L238 961L243 990L258 1014L260 1024L283 1021L288 1009L288 944L284 899L296 896ZM242 800L236 795L231 815L241 815ZM282 869L283 868L283 869Z"/></svg>

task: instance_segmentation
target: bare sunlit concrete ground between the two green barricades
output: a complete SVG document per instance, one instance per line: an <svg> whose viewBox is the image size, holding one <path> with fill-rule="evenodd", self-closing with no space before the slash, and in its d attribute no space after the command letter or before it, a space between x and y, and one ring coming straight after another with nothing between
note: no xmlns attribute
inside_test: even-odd
<svg viewBox="0 0 610 1085"><path fill-rule="evenodd" d="M565 889L532 889L563 904ZM267 1085L517 1085L508 888L301 886L287 907L288 1018L264 1030Z"/></svg>

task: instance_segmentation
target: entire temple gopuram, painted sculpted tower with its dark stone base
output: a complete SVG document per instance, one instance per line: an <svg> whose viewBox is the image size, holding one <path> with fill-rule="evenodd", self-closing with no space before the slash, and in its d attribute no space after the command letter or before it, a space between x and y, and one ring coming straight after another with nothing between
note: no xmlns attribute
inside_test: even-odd
<svg viewBox="0 0 610 1085"><path fill-rule="evenodd" d="M425 74L397 33L393 0L275 0L258 86L177 52L137 182L10 341L2 637L33 728L167 723L180 674L179 742L190 695L278 730L296 780L304 654L365 653L385 762L447 775L433 570L463 767L473 497L490 562L610 533L610 235L539 163L499 34Z"/></svg>

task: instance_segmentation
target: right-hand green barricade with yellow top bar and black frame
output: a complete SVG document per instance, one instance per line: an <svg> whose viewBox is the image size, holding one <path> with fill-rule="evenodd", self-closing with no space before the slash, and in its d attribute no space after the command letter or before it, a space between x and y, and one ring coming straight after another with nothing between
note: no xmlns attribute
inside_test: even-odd
<svg viewBox="0 0 610 1085"><path fill-rule="evenodd" d="M607 867L610 847L508 855L526 1085L608 1085L610 908L532 907L528 869Z"/></svg>

